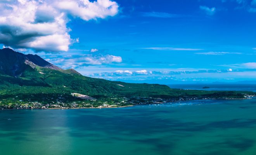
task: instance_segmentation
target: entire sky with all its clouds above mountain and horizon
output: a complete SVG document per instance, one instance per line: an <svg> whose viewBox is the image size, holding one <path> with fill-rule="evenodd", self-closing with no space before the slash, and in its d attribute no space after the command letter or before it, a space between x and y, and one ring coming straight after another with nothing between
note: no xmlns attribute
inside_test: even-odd
<svg viewBox="0 0 256 155"><path fill-rule="evenodd" d="M255 15L256 0L0 0L0 47L104 79L251 80Z"/></svg>

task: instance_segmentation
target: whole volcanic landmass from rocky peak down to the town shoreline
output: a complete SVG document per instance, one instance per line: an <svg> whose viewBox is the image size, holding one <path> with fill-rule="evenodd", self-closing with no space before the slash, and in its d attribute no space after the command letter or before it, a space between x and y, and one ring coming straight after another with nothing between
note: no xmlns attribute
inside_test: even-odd
<svg viewBox="0 0 256 155"><path fill-rule="evenodd" d="M107 108L255 95L249 91L181 90L160 84L108 81L61 69L38 55L0 50L0 109Z"/></svg>

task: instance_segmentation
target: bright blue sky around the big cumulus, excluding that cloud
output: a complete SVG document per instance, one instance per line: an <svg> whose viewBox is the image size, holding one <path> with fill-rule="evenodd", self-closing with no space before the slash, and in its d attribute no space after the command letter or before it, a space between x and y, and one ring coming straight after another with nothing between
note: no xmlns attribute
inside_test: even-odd
<svg viewBox="0 0 256 155"><path fill-rule="evenodd" d="M117 12L100 12L91 19L67 13L65 32L72 38L68 50L1 43L64 69L110 80L255 80L256 0L115 2Z"/></svg>

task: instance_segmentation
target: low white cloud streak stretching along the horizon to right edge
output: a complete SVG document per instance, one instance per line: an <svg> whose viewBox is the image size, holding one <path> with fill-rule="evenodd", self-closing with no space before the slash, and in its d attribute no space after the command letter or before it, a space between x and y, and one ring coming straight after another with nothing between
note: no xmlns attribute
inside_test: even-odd
<svg viewBox="0 0 256 155"><path fill-rule="evenodd" d="M223 80L223 79L237 79L237 78L247 78L247 79L255 79L256 75L256 69L203 69L203 70L194 70L190 71L191 69L184 69L183 71L180 71L180 69L171 69L168 71L168 69L157 69L157 71L152 71L152 74L146 74L150 73L150 71L147 71L145 69L134 69L130 68L128 71L132 71L133 74L125 74L124 71L126 69L122 70L116 70L113 72L112 69L116 68L93 68L91 69L91 72L88 73L88 70L90 70L90 67L88 66L86 68L78 70L82 74L86 74L87 76L91 77L98 77L98 78L104 78L104 79L111 79L111 80L161 80L161 79L170 79L170 80L178 80L178 81L208 81L211 79L211 81L216 80ZM98 71L98 72L97 72ZM102 72L99 72L102 71ZM106 72L107 71L107 72ZM138 71L138 72L136 72ZM144 74L141 74L144 73ZM165 81L168 82L168 81ZM170 82L170 81L169 81ZM155 83L155 82L154 82ZM168 84L168 83L165 83ZM169 83L170 84L170 83Z"/></svg>

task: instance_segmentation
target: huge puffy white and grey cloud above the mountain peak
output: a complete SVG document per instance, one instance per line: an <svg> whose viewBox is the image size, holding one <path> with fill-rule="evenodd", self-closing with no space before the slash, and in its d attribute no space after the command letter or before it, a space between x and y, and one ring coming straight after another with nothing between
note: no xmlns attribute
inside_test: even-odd
<svg viewBox="0 0 256 155"><path fill-rule="evenodd" d="M111 0L9 0L0 1L0 43L37 51L67 51L72 39L68 17L85 21L118 13Z"/></svg>

